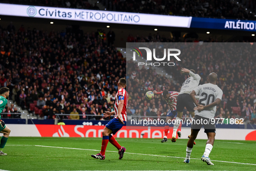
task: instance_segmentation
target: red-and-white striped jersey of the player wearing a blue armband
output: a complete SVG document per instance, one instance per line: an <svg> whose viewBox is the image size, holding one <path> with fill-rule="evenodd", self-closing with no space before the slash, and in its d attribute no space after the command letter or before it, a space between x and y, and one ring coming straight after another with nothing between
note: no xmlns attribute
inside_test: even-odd
<svg viewBox="0 0 256 171"><path fill-rule="evenodd" d="M127 91L124 88L121 88L120 90L117 91L116 102L115 102L115 118L117 118L118 104L121 100L124 100L123 110L121 112L120 117L123 119L123 121L127 121L126 107L127 107L127 103L128 103L128 98L129 98L129 95L128 95Z"/></svg>

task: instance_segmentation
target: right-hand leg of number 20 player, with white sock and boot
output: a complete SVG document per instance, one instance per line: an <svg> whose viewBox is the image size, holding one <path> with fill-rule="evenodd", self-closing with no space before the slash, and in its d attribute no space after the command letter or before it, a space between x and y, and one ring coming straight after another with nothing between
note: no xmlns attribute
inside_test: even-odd
<svg viewBox="0 0 256 171"><path fill-rule="evenodd" d="M215 140L215 132L207 132L207 137L208 137L208 140L206 142L206 146L205 146L205 151L204 151L204 155L202 156L201 160L202 161L205 161L207 163L207 165L214 165L210 158L209 158L209 155L211 153L211 150L213 148L213 145L214 145L214 140Z"/></svg>

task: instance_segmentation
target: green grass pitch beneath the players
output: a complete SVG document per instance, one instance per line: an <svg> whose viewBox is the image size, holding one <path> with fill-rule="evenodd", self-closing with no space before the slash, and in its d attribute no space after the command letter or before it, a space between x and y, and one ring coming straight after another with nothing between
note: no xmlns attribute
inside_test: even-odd
<svg viewBox="0 0 256 171"><path fill-rule="evenodd" d="M91 155L100 152L101 138L10 137L3 149L8 155L0 156L0 169L8 171L256 170L255 141L216 140L209 156L211 160L216 160L212 161L214 165L207 165L200 159L204 153L206 140L196 140L191 158L197 159L191 159L189 164L183 163L188 139L177 139L175 143L171 141L161 143L161 139L117 138L117 141L121 146L126 147L123 159L118 159L117 149L109 143L107 151L114 152L106 152L105 160L99 160L92 158Z"/></svg>

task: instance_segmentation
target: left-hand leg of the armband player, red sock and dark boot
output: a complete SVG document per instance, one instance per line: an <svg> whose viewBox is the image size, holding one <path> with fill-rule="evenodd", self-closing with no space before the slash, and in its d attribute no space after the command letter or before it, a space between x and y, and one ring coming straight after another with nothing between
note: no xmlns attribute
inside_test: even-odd
<svg viewBox="0 0 256 171"><path fill-rule="evenodd" d="M105 159L105 152L106 152L106 148L107 148L107 143L109 141L108 139L109 139L109 135L111 133L112 133L112 130L108 129L107 127L104 128L104 130L102 132L101 151L97 155L91 155L91 157L97 158L97 159L100 159L100 160Z"/></svg>

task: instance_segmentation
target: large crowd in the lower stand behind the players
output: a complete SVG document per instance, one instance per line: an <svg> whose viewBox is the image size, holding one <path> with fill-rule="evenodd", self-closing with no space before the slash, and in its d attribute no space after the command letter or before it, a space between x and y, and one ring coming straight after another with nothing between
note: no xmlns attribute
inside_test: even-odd
<svg viewBox="0 0 256 171"><path fill-rule="evenodd" d="M170 79L152 69L139 69L131 65L132 61L128 61L126 75L126 58L114 47L113 40L107 41L100 30L84 33L82 29L73 29L68 26L65 32L48 33L24 26L16 29L12 23L0 27L0 86L10 88L13 102L45 119L55 118L56 113L68 114L62 116L64 119L103 119L105 110L114 110L118 80L126 77L129 119L165 116L168 106L161 95L146 100L145 93L179 91L187 77L180 72L185 67L201 76L200 84L205 83L207 74L218 74L217 84L224 96L217 107L217 118L243 117L255 123L253 45L236 47L230 55L221 55L225 54L222 49L214 57L204 54L195 59L187 51L177 67L169 68ZM156 35L152 36L156 40ZM3 112L13 110L6 106ZM186 109L183 117L191 117Z"/></svg>

